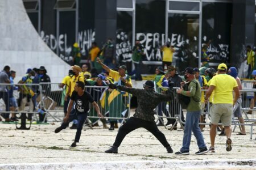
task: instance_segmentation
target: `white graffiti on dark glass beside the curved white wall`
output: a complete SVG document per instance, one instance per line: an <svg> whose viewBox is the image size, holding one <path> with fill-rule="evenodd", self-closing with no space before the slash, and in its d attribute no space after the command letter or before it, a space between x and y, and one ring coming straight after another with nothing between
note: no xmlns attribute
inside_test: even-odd
<svg viewBox="0 0 256 170"><path fill-rule="evenodd" d="M55 35L46 35L44 31L40 32L40 37L51 50L56 52L59 49L59 57L65 62L70 63L72 61L72 45L75 42L68 42L67 34L60 34L59 37ZM78 35L78 44L81 48L82 56L87 56L92 42L95 40L95 31L93 29L87 29L80 31Z"/></svg>

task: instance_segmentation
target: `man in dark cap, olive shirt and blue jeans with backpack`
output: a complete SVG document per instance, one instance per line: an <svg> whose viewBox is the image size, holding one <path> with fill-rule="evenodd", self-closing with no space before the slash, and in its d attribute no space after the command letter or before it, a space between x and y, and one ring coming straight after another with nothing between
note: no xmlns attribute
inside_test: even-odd
<svg viewBox="0 0 256 170"><path fill-rule="evenodd" d="M191 142L191 134L196 137L197 146L199 151L196 152L196 155L205 154L208 152L207 147L204 143L204 137L199 128L199 119L201 114L200 107L200 97L201 97L201 88L199 82L195 80L195 73L192 67L187 67L185 69L184 78L189 82L188 90L185 91L183 88L177 90L177 94L190 97L189 104L187 106L187 116L185 121L185 129L183 136L183 146L179 152L175 152L175 155L188 155L189 146Z"/></svg>

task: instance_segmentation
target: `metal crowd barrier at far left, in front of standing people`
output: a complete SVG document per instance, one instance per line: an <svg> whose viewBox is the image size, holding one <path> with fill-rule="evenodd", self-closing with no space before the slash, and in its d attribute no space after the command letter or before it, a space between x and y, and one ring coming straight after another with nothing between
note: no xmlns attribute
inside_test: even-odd
<svg viewBox="0 0 256 170"><path fill-rule="evenodd" d="M38 121L36 113L42 107L37 101L42 95L42 88L39 84L0 84L0 112L6 120L11 117L16 119L16 114L20 118L20 128L30 129L32 120ZM26 119L30 120L29 128L26 127ZM40 119L40 115L39 115Z"/></svg>

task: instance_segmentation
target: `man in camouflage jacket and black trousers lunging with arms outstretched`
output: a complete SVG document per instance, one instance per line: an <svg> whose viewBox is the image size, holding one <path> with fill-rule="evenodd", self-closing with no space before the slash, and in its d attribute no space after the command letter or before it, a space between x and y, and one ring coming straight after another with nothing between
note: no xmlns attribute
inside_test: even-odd
<svg viewBox="0 0 256 170"><path fill-rule="evenodd" d="M168 153L172 153L173 151L170 144L167 142L164 134L159 131L154 121L154 108L160 102L170 101L174 99L174 93L172 91L172 88L168 91L168 95L159 94L158 92L155 92L154 82L150 80L147 80L147 82L143 84L144 89L116 86L114 84L110 84L109 88L117 88L121 91L129 92L130 94L137 96L138 107L135 111L134 116L130 117L129 120L127 120L127 122L123 126L121 126L121 128L119 128L113 146L105 152L117 154L118 147L121 145L123 139L127 134L135 129L145 128L150 131L162 143L164 147L166 147Z"/></svg>

